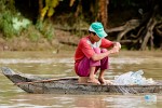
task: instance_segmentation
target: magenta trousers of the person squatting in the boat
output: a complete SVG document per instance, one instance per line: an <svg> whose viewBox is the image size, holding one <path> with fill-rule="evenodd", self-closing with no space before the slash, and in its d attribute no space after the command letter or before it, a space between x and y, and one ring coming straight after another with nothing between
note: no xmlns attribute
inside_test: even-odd
<svg viewBox="0 0 162 108"><path fill-rule="evenodd" d="M100 50L99 48L94 49L94 51L97 54L107 52L106 49ZM100 60L93 60L91 58L89 59L87 57L84 57L83 59L81 59L80 63L78 63L76 73L80 77L89 77L90 67L96 67L96 70L95 70L95 73L96 73L98 69L100 70L108 69L108 66L109 66L108 56Z"/></svg>

